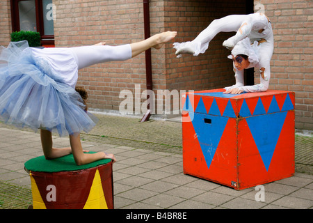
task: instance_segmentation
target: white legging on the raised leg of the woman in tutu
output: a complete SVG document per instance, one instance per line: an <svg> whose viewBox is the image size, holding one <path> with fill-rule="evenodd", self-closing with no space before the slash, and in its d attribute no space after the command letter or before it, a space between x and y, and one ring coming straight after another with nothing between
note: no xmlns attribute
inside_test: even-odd
<svg viewBox="0 0 313 223"><path fill-rule="evenodd" d="M78 69L86 68L96 63L126 61L131 59L131 46L129 44L118 46L93 45L72 47L71 49L76 57Z"/></svg>

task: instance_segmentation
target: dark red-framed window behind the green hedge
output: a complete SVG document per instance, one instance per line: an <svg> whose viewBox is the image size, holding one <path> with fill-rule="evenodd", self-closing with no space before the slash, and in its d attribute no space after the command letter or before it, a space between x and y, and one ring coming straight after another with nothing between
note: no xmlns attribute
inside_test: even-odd
<svg viewBox="0 0 313 223"><path fill-rule="evenodd" d="M43 46L54 46L52 0L10 0L13 31L37 31Z"/></svg>

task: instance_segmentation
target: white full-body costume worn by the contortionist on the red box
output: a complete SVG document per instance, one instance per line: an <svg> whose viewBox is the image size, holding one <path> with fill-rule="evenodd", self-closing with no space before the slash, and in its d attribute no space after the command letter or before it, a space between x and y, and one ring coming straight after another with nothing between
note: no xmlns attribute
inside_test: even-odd
<svg viewBox="0 0 313 223"><path fill-rule="evenodd" d="M235 69L236 84L225 89L239 87L246 92L266 91L269 80L271 79L270 61L274 49L274 38L271 22L268 17L262 13L252 13L249 15L228 15L226 17L214 20L204 29L194 40L186 43L174 43L174 48L189 47L194 52L193 56L203 54L209 47L209 42L220 32L236 32L235 36L224 41L223 46L232 49L239 41L249 38L250 43L257 47L258 63L250 63L249 68L262 68L263 75L260 75L260 84L253 86L243 86L243 70ZM255 48L256 49L256 48ZM179 57L181 55L178 55ZM249 56L249 55L247 55ZM263 71L264 70L264 71ZM263 77L264 78L263 78Z"/></svg>

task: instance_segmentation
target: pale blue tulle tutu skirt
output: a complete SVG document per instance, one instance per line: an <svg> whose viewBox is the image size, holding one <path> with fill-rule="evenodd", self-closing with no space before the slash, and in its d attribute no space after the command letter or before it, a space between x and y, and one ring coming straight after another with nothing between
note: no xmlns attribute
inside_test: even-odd
<svg viewBox="0 0 313 223"><path fill-rule="evenodd" d="M97 118L84 108L81 95L63 83L45 59L33 56L26 41L1 47L1 121L63 137L95 126Z"/></svg>

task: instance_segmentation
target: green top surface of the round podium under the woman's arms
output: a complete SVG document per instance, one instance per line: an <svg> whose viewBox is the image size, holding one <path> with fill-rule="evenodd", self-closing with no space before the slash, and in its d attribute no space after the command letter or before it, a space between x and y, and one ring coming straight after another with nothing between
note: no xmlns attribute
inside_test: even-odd
<svg viewBox="0 0 313 223"><path fill-rule="evenodd" d="M95 153L95 152L89 152ZM104 159L92 162L90 164L84 164L78 166L75 163L74 157L72 154L65 155L63 157L58 157L53 160L46 160L45 156L35 157L27 162L25 162L24 166L25 169L28 171L34 172L47 172L47 173L54 173L54 172L61 172L61 171L78 171L81 169L89 169L93 167L97 167L102 164L107 164L111 162L111 159Z"/></svg>

